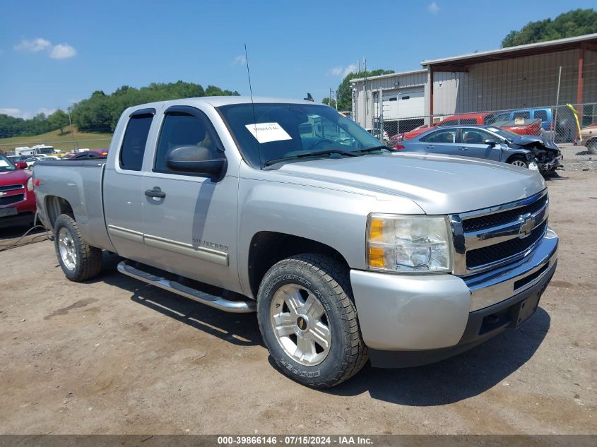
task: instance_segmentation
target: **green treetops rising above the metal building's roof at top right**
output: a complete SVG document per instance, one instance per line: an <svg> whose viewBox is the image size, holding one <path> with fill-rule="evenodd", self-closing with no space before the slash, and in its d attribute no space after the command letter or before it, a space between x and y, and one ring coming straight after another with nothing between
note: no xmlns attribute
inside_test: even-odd
<svg viewBox="0 0 597 447"><path fill-rule="evenodd" d="M510 31L502 40L502 48L564 39L593 32L597 32L597 11L593 8L573 9L560 14L553 20L546 18L529 22L518 31Z"/></svg>

